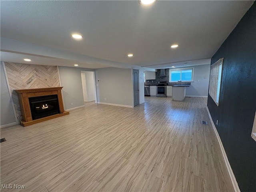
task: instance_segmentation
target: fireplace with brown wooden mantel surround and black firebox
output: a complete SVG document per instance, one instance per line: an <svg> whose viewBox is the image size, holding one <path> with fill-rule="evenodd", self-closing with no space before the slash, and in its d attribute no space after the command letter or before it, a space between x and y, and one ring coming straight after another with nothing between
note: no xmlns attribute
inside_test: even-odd
<svg viewBox="0 0 256 192"><path fill-rule="evenodd" d="M61 89L62 87L15 90L20 102L21 124L28 126L69 114L64 111Z"/></svg>

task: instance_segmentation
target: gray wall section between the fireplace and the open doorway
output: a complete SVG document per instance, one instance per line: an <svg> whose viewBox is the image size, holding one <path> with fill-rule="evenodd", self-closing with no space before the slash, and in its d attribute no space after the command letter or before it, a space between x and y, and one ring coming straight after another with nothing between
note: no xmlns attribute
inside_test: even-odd
<svg viewBox="0 0 256 192"><path fill-rule="evenodd" d="M60 84L63 87L64 108L70 109L84 105L81 71L94 71L86 68L59 66ZM73 105L71 105L73 103Z"/></svg>

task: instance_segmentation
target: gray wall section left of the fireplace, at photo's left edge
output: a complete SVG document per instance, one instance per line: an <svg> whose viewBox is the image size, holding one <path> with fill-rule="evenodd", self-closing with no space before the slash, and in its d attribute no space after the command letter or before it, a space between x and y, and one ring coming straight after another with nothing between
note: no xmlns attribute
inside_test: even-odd
<svg viewBox="0 0 256 192"><path fill-rule="evenodd" d="M1 96L0 96L0 125L15 123L14 111L10 99L10 94L7 87L6 77L4 75L4 68L1 62Z"/></svg>

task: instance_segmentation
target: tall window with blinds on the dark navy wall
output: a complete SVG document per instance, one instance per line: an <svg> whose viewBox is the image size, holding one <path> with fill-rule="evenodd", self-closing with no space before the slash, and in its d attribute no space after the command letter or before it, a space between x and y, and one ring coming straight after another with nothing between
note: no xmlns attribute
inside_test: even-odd
<svg viewBox="0 0 256 192"><path fill-rule="evenodd" d="M219 106L219 100L220 100L222 64L223 64L223 58L215 62L211 66L211 70L210 70L209 95L212 97L212 99L214 100L217 106Z"/></svg>

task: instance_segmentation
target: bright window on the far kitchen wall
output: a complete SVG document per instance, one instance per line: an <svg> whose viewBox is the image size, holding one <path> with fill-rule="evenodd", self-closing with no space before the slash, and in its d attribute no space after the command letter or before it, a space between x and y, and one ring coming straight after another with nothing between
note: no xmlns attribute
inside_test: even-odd
<svg viewBox="0 0 256 192"><path fill-rule="evenodd" d="M194 69L170 69L169 82L193 81Z"/></svg>

